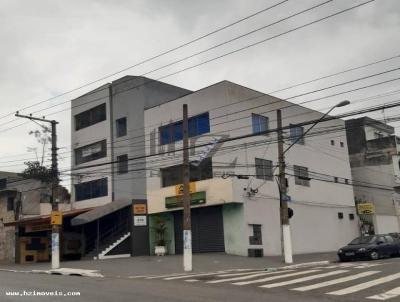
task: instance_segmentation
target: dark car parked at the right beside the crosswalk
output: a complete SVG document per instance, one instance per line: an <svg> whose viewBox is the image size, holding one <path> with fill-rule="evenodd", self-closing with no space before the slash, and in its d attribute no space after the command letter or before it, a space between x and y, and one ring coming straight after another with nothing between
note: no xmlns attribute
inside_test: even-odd
<svg viewBox="0 0 400 302"><path fill-rule="evenodd" d="M358 237L338 251L340 261L353 259L376 260L383 257L397 256L400 244L390 235L371 235Z"/></svg>

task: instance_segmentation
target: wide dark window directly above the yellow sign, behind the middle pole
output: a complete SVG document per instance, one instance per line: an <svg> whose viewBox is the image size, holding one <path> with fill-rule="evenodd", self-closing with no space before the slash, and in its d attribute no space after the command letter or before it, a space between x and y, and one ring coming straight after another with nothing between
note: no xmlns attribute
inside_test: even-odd
<svg viewBox="0 0 400 302"><path fill-rule="evenodd" d="M182 165L161 169L161 185L163 187L175 186L183 183ZM210 179L212 174L212 160L205 158L198 166L190 166L190 181Z"/></svg>

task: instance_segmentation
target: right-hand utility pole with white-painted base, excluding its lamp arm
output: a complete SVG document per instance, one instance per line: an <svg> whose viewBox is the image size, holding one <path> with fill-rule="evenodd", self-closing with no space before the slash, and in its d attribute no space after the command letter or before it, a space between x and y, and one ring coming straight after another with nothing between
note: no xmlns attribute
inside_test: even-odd
<svg viewBox="0 0 400 302"><path fill-rule="evenodd" d="M283 130L282 130L282 112L277 110L277 123L278 123L278 161L279 161L279 200L280 200L280 214L281 214L281 244L283 246L283 256L285 263L293 263L292 257L292 239L290 235L289 213L287 204L287 188L286 188L286 174L285 174L285 153L283 151Z"/></svg>

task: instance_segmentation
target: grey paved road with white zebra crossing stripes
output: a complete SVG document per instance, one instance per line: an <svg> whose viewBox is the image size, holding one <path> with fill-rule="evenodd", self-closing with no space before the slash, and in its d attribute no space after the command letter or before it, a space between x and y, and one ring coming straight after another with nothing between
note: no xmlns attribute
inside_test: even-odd
<svg viewBox="0 0 400 302"><path fill-rule="evenodd" d="M226 270L131 278L0 272L0 301L400 301L400 259L278 271ZM5 291L79 291L10 297Z"/></svg>

